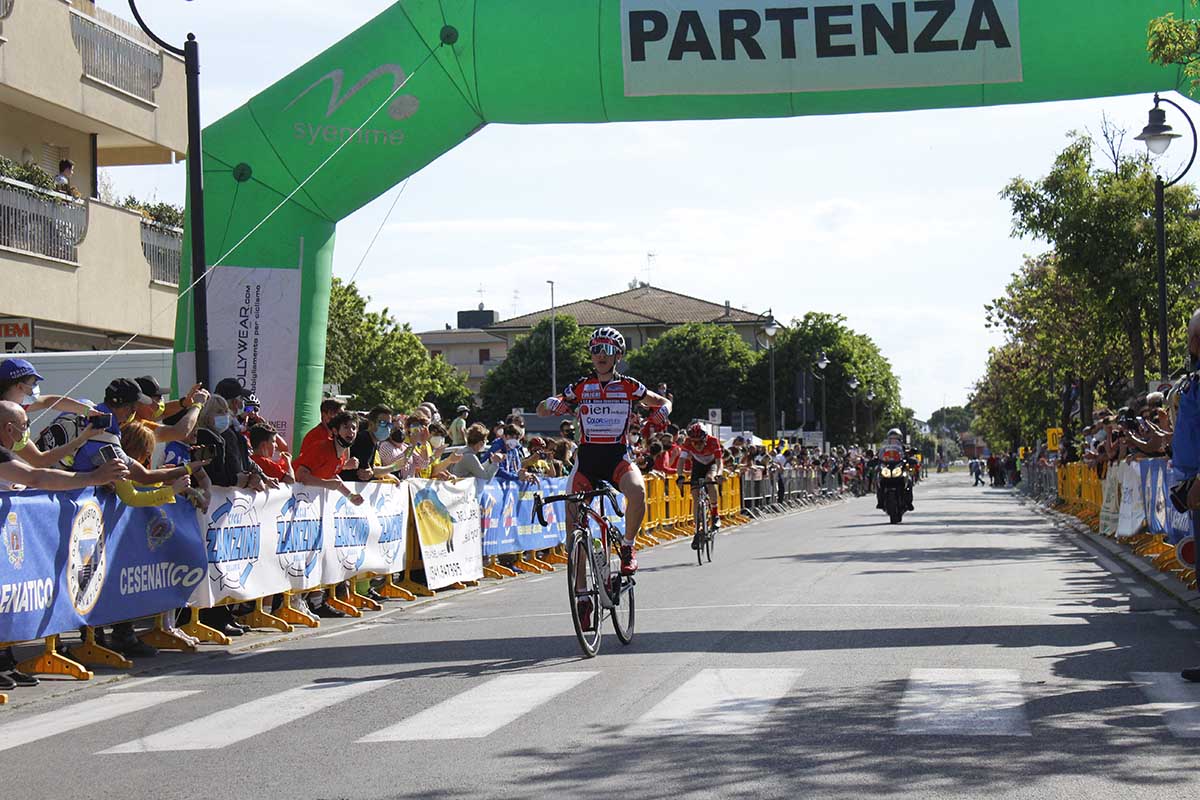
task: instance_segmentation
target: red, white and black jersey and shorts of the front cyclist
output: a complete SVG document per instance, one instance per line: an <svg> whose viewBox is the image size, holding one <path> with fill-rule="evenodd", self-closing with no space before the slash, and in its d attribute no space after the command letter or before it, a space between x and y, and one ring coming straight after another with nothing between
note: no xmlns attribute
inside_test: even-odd
<svg viewBox="0 0 1200 800"><path fill-rule="evenodd" d="M580 446L569 491L587 492L596 481L619 486L620 479L635 469L629 428L643 397L646 386L641 381L617 373L608 381L593 373L563 391L563 399L574 408L580 423Z"/></svg>

